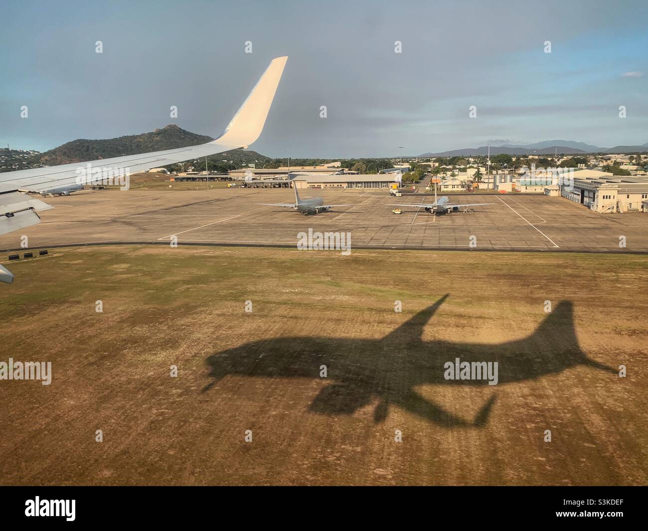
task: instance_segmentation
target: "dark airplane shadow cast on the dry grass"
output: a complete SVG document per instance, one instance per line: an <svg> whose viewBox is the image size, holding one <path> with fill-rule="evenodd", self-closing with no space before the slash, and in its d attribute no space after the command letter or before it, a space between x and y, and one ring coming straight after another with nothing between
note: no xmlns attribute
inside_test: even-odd
<svg viewBox="0 0 648 531"><path fill-rule="evenodd" d="M249 377L319 379L320 366L334 383L323 388L310 410L330 416L351 415L378 399L376 422L386 419L389 405L443 427L483 427L491 413L493 393L472 421L448 412L418 394L421 384L488 385L486 379L448 380L445 364L498 362L498 385L535 380L584 365L616 374L616 370L589 359L578 344L571 301L562 301L526 338L501 343L423 341L428 320L448 295L415 314L382 339L288 336L249 342L207 358L211 383L229 374ZM496 388L496 386L492 386Z"/></svg>

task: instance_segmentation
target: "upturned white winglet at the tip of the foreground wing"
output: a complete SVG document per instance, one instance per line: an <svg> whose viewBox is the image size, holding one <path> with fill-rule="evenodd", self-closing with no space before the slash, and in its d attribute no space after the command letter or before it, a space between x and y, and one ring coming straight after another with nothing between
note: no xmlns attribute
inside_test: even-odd
<svg viewBox="0 0 648 531"><path fill-rule="evenodd" d="M223 134L213 141L214 144L248 147L259 138L287 60L288 57L277 57L270 62Z"/></svg>

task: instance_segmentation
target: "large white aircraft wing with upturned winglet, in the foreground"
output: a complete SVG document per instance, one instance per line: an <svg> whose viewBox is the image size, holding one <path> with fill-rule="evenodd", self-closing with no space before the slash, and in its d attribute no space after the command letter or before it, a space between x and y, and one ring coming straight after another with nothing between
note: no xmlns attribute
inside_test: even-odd
<svg viewBox="0 0 648 531"><path fill-rule="evenodd" d="M79 176L84 176L87 180L106 175L118 178L127 172L144 171L248 147L259 138L266 123L286 60L287 57L277 57L270 62L226 130L212 142L139 155L0 173L0 235L39 223L38 212L52 208L41 200L25 195L27 192L58 193L59 190L78 185ZM11 282L13 276L4 274L3 270L0 266L0 281Z"/></svg>

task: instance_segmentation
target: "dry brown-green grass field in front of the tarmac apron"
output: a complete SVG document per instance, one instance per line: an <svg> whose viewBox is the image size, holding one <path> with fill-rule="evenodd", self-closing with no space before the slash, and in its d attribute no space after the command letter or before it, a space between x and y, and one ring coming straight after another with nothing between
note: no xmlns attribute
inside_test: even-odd
<svg viewBox="0 0 648 531"><path fill-rule="evenodd" d="M0 361L52 383L0 381L1 484L648 483L645 257L115 246L10 268ZM481 355L497 385L439 377Z"/></svg>

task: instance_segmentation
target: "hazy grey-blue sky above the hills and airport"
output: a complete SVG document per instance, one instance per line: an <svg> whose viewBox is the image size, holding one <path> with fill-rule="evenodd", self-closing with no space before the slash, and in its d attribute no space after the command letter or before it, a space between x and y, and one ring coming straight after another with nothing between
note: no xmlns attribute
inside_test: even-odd
<svg viewBox="0 0 648 531"><path fill-rule="evenodd" d="M218 136L283 55L252 147L269 156L393 156L400 145L419 154L494 139L648 142L645 1L5 0L3 13L2 146L45 150L168 123Z"/></svg>

